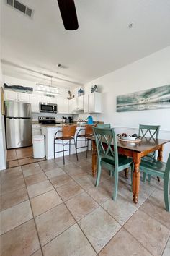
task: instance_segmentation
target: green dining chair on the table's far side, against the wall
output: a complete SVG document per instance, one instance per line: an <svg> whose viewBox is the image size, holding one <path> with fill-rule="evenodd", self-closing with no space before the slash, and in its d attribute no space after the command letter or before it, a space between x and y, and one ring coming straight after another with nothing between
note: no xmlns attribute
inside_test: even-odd
<svg viewBox="0 0 170 256"><path fill-rule="evenodd" d="M150 137L151 139L158 139L159 129L160 129L160 125L140 124L138 136ZM145 161L149 162L149 161L152 161L153 158L155 158L155 157L156 157L156 151L144 156L143 159L145 159ZM145 181L146 181L146 173L143 173L143 182L145 182ZM148 182L151 182L150 174L148 174Z"/></svg>

